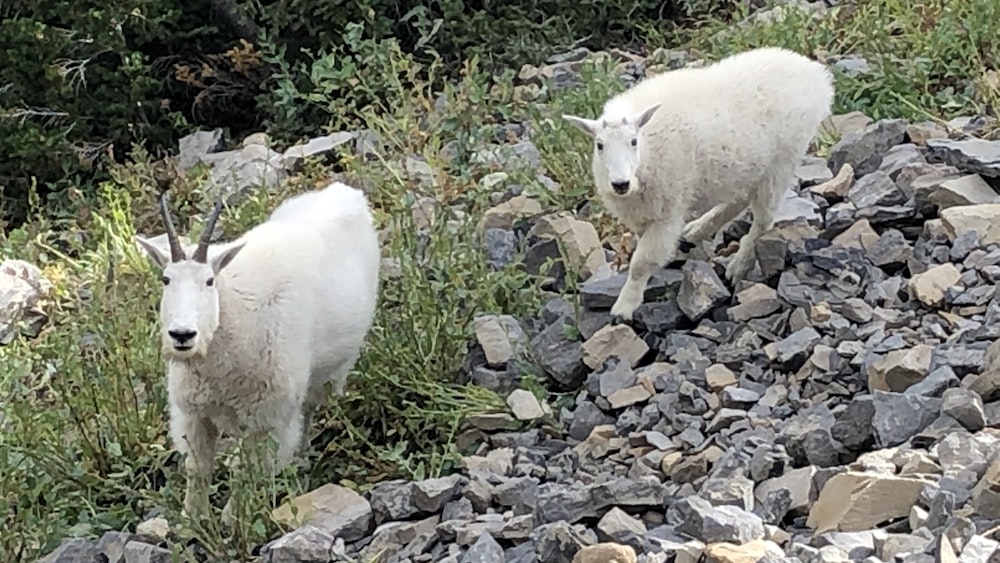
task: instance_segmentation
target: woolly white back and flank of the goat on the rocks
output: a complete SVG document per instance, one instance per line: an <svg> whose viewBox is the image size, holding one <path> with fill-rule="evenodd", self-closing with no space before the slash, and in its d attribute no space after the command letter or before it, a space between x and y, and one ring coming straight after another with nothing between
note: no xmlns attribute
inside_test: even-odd
<svg viewBox="0 0 1000 563"><path fill-rule="evenodd" d="M833 96L824 65L768 47L647 78L608 100L605 115L661 104L643 128L645 175L678 190L672 197L697 200L696 216L786 173L790 180Z"/></svg>

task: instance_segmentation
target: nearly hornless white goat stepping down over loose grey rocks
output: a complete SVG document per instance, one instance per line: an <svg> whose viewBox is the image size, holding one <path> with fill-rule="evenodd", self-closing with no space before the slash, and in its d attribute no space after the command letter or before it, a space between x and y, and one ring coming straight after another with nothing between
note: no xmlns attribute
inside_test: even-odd
<svg viewBox="0 0 1000 563"><path fill-rule="evenodd" d="M594 139L605 207L639 237L611 314L632 317L682 236L712 236L749 206L750 231L726 267L731 282L743 278L833 96L824 65L769 47L646 78L598 119L564 115Z"/></svg>

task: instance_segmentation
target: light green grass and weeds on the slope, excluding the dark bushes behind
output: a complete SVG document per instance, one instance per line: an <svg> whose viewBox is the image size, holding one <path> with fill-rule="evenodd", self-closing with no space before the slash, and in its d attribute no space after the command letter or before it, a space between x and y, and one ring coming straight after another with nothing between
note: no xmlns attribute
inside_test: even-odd
<svg viewBox="0 0 1000 563"><path fill-rule="evenodd" d="M1000 5L990 0L860 2L818 19L793 13L780 22L729 29L707 22L685 37L664 37L658 46L689 47L708 59L759 45L863 56L874 70L838 77L838 112L947 119L996 109L998 16ZM359 80L383 92L385 102L350 117L376 131L386 146L373 162L349 159L347 175L371 188L388 233L386 255L398 261L399 272L383 282L376 326L348 396L331 400L317 417L313 444L322 455L309 471L289 470L274 479L252 470L230 474L220 465L218 492L234 490L241 501L239 524L230 532L180 517L184 479L166 439L163 367L155 345L156 273L131 242L136 230L159 232L152 187L157 173L149 155L136 150L102 187L99 205L81 208L73 220L39 216L0 244L0 258L38 264L55 286L45 331L0 348L4 561L33 560L68 535L134 529L153 510L171 522L175 544L197 538L212 560L245 560L280 533L268 514L283 496L330 481L363 489L386 477L447 473L461 455L456 442L464 416L503 408L502 397L456 382L471 319L483 312L530 314L541 296L515 268L492 272L485 266L477 219L492 194L479 180L494 170L472 164L471 153L491 138L493 123L531 122L541 171L561 190L550 192L532 170L507 170L508 182L524 185L547 208L572 209L590 195L590 146L559 115L592 115L623 86L611 63L590 65L583 69L586 88L556 92L539 105L521 101L510 76L491 79L473 61L435 105L438 93L413 78L415 63L393 51L373 56L394 73ZM434 185L423 187L401 173L396 164L407 154L422 155L438 171ZM257 193L227 210L227 233L236 236L282 198L313 189L328 174L310 163L276 193ZM197 174L175 180L172 204L182 211L207 208L205 185ZM410 205L423 196L442 205L429 229L418 232ZM461 216L454 211L459 208ZM594 220L602 235L617 230L606 216ZM179 221L179 228L187 226ZM541 391L534 381L530 387ZM245 467L253 468L248 459Z"/></svg>

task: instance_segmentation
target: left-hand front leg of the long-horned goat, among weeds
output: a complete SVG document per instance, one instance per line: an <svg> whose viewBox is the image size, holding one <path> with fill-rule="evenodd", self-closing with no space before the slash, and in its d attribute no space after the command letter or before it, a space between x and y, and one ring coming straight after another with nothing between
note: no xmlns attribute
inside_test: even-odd
<svg viewBox="0 0 1000 563"><path fill-rule="evenodd" d="M208 510L208 487L215 466L215 449L219 430L205 417L189 417L175 412L172 420L177 443L186 452L184 469L187 487L184 492L184 512L196 518Z"/></svg>

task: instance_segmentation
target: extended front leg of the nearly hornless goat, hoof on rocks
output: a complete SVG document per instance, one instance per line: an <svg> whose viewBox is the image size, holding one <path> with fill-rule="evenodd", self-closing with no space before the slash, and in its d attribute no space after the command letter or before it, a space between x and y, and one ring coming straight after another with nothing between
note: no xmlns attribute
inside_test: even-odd
<svg viewBox="0 0 1000 563"><path fill-rule="evenodd" d="M653 272L673 260L677 253L684 222L671 215L650 225L636 244L628 265L628 278L618 299L611 307L611 316L617 321L631 320L635 310L642 305L646 286Z"/></svg>

